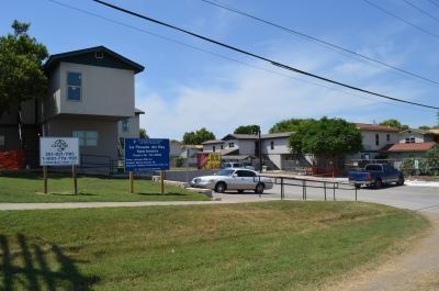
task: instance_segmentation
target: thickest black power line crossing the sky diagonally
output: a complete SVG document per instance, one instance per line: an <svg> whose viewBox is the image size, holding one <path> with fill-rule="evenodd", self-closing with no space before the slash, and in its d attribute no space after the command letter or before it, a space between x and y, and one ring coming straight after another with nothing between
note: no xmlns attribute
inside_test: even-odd
<svg viewBox="0 0 439 291"><path fill-rule="evenodd" d="M335 81L335 80L331 80L331 79L328 79L328 78L325 78L325 77L322 77L322 76L318 76L318 75L315 75L315 74L312 74L312 72L307 72L307 71L304 71L304 70L301 70L301 69L284 65L282 63L274 61L274 60L269 59L267 57L262 57L260 55L256 55L256 54L250 53L248 51L244 51L241 48L238 48L238 47L235 47L235 46L232 46L232 45L215 41L213 38L209 38L206 36L190 32L188 30L183 30L183 29L177 27L175 25L171 25L171 24L168 24L166 22L162 22L162 21L149 18L149 16L146 16L146 15L139 14L137 12L133 12L133 11L130 11L127 9L120 8L117 5L106 3L106 2L101 1L101 0L92 0L92 1L98 2L100 4L103 4L103 5L106 5L109 8L112 8L114 10L121 11L123 13L126 13L126 14L130 14L130 15L133 15L133 16L136 16L136 18L140 18L140 19L144 19L146 21L154 22L156 24L159 24L159 25L162 25L162 26L166 26L166 27L169 27L169 29L172 29L172 30L189 34L189 35L194 36L196 38L200 38L200 40L216 44L218 46L228 48L230 51L234 51L234 52L237 52L237 53L240 53L240 54L244 54L244 55L247 55L247 56L260 59L260 60L268 61L273 66L290 70L290 71L294 71L294 72L297 72L297 74L301 74L301 75L305 75L305 76L308 76L308 77L312 77L312 78L315 78L315 79L319 79L319 80L323 80L323 81L326 81L326 82L330 82L330 83L335 83L335 85L338 85L338 86L341 86L341 87L345 87L345 88L349 88L349 89L354 90L354 91L360 91L360 92L363 92L363 93L381 97L381 98L389 99L389 100L392 100L392 101L407 103L407 104L417 105L417 107L430 108L430 109L439 109L439 107L432 107L432 105L412 102L412 101L407 101L407 100L403 100L403 99L398 99L398 98L394 98L394 97L389 97L389 96L385 96L385 94L375 93L375 92L372 92L372 91L369 91L369 90L365 90L365 89L361 89L361 88L358 88L358 87L354 87L354 86L350 86L350 85L347 85L347 83L344 83L344 82Z"/></svg>

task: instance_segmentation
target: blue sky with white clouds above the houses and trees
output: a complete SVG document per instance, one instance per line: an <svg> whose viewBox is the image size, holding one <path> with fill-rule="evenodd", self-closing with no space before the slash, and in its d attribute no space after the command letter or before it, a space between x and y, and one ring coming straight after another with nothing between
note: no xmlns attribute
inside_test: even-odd
<svg viewBox="0 0 439 291"><path fill-rule="evenodd" d="M364 0L222 3L439 82L439 0L368 1L421 30ZM439 85L201 0L108 2L312 74L439 107ZM145 66L145 71L136 76L136 107L146 112L140 126L150 137L181 139L185 132L206 127L222 138L239 125L250 124L259 124L266 133L277 122L292 117L328 116L363 123L397 119L412 127L438 122L432 109L389 101L283 70L90 0L1 1L1 35L11 32L14 19L30 22L30 34L44 43L50 54L104 45Z"/></svg>

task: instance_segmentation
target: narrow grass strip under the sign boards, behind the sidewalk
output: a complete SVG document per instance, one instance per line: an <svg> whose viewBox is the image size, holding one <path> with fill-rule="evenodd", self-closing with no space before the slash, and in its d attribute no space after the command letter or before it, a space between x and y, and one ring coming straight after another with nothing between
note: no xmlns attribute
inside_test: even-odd
<svg viewBox="0 0 439 291"><path fill-rule="evenodd" d="M93 201L166 201L207 200L204 194L180 187L135 178L134 193L130 193L128 179L78 177L78 194L74 194L74 180L69 175L49 174L48 193L44 194L42 172L1 172L1 202L93 202Z"/></svg>

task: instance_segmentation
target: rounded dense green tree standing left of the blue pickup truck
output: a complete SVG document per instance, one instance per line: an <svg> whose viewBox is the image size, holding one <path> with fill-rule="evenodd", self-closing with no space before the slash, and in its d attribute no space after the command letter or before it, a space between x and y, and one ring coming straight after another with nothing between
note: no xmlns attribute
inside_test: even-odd
<svg viewBox="0 0 439 291"><path fill-rule="evenodd" d="M362 149L362 136L356 125L341 119L323 117L301 122L289 138L293 154L313 154L317 167L331 161L334 166L346 155ZM340 166L341 167L341 166Z"/></svg>

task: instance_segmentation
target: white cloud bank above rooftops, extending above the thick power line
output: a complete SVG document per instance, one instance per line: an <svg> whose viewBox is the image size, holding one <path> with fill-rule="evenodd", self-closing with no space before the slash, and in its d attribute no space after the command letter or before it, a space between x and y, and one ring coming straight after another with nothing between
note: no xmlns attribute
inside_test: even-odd
<svg viewBox="0 0 439 291"><path fill-rule="evenodd" d="M317 51L282 46L282 52L272 49L271 55L273 59L282 59L282 63L291 64L292 67L391 97L416 102L424 93L419 83L414 81L390 81L395 74L387 74L389 69L349 58L340 60L339 54L318 54ZM389 44L376 46L373 51L379 52L376 54L384 59L394 52ZM395 59L397 64L403 54L393 54L393 58L387 59ZM175 139L181 139L185 132L206 127L217 138L222 138L239 125L258 124L263 132L268 132L274 123L291 117L319 119L326 115L352 122L380 122L390 117L403 121L398 111L407 112L408 105L404 108L394 102L390 105L389 100L268 66L266 63L254 61L251 66L273 72L227 61L219 68L204 70L207 77L212 75L211 78L203 78L211 80L209 83L177 85L172 90L167 90L172 91L172 96L151 92L138 83L137 104L146 108L146 114L140 120L142 127L151 137Z"/></svg>

